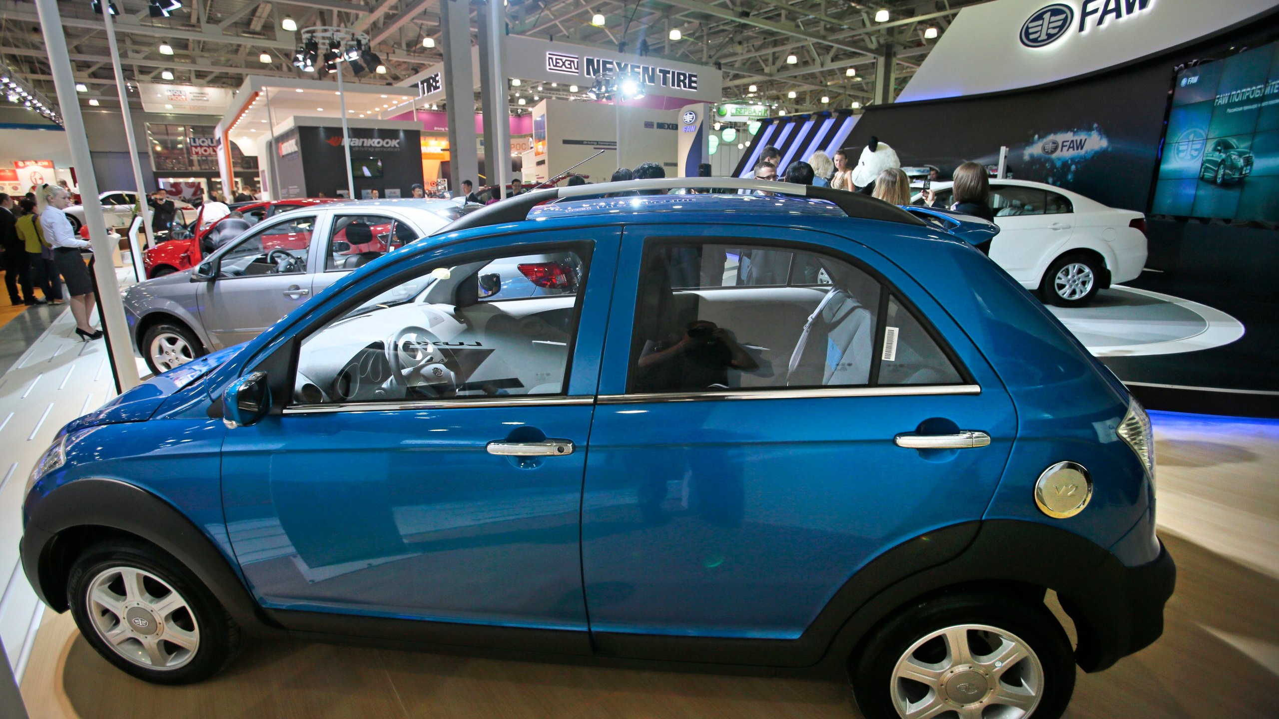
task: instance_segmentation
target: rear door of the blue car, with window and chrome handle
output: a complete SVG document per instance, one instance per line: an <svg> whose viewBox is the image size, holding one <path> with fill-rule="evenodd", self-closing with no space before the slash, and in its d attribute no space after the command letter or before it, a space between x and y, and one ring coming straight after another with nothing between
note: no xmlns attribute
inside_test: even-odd
<svg viewBox="0 0 1279 719"><path fill-rule="evenodd" d="M844 238L628 228L609 326L582 504L606 652L801 637L876 555L980 519L1016 434L964 333Z"/></svg>

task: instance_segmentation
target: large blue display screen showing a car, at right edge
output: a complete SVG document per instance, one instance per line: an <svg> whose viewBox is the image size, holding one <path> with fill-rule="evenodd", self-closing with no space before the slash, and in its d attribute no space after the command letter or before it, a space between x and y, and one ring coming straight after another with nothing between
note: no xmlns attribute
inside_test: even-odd
<svg viewBox="0 0 1279 719"><path fill-rule="evenodd" d="M1151 212L1279 221L1276 47L1177 73Z"/></svg>

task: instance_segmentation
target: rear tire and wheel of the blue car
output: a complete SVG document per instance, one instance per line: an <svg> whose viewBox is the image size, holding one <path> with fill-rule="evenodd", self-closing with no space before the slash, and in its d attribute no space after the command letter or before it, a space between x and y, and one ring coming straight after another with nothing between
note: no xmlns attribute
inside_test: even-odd
<svg viewBox="0 0 1279 719"><path fill-rule="evenodd" d="M866 719L898 719L936 704L948 716L1003 705L1024 711L1013 716L1056 719L1074 692L1074 656L1042 604L952 594L916 603L884 624L862 644L849 678Z"/></svg>

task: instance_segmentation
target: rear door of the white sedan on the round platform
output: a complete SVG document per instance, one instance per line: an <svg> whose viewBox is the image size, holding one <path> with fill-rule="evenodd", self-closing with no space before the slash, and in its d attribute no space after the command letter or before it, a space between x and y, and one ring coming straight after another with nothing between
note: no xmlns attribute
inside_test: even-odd
<svg viewBox="0 0 1279 719"><path fill-rule="evenodd" d="M1055 198L1059 194L1053 193ZM990 207L995 211L999 234L990 243L990 258L1022 284L1039 284L1039 273L1056 256L1056 248L1071 238L1071 215L1060 212L1060 202L1049 209L1049 193L1039 187L990 184Z"/></svg>

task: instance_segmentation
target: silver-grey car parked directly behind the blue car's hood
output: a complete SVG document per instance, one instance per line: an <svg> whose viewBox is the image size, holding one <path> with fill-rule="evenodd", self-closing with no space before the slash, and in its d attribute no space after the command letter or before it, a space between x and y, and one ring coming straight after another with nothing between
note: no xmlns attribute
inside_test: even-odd
<svg viewBox="0 0 1279 719"><path fill-rule="evenodd" d="M124 293L129 334L152 372L257 336L347 273L462 216L448 200L370 200L270 217L200 266Z"/></svg>

